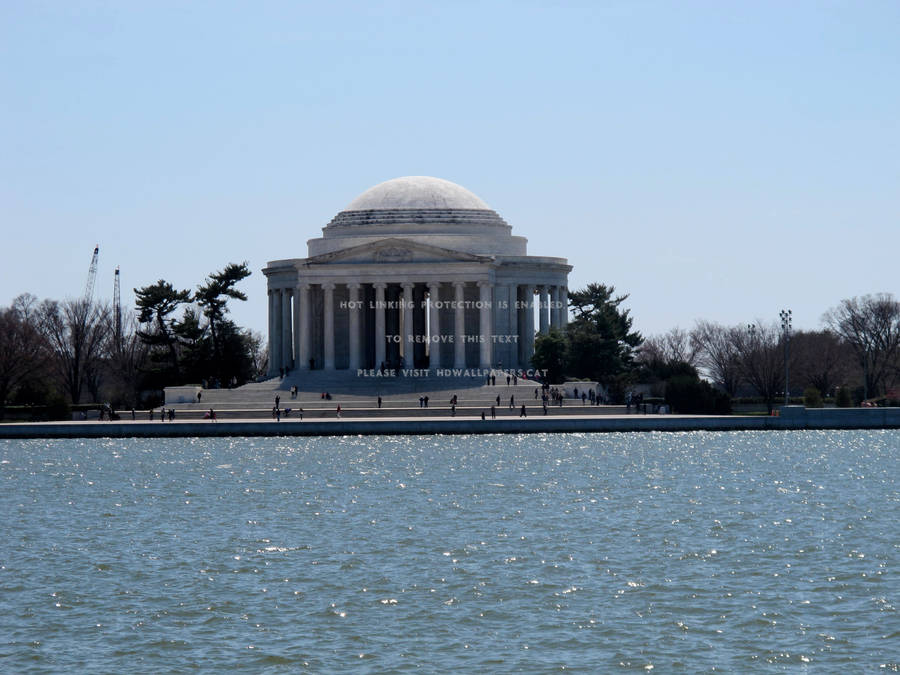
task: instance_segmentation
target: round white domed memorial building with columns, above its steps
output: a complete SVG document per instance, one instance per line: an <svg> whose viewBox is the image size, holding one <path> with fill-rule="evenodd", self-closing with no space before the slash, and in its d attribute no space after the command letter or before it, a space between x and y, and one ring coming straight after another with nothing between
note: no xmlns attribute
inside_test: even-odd
<svg viewBox="0 0 900 675"><path fill-rule="evenodd" d="M366 190L307 242L306 258L263 270L269 375L530 368L535 331L566 324L572 267L526 244L450 181Z"/></svg>

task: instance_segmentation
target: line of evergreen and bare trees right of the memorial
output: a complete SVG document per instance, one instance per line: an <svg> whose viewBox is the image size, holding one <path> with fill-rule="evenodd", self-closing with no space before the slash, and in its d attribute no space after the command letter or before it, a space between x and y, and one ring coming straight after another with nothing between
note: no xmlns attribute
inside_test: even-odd
<svg viewBox="0 0 900 675"><path fill-rule="evenodd" d="M603 284L572 293L572 321L537 338L535 367L547 368L554 381L598 381L613 400L649 385L680 412L725 412L739 396L757 397L771 412L784 396L786 373L790 392L813 401L900 398L900 302L890 293L842 300L819 330L792 331L777 320L698 320L689 330L648 338L633 330L627 298Z"/></svg>

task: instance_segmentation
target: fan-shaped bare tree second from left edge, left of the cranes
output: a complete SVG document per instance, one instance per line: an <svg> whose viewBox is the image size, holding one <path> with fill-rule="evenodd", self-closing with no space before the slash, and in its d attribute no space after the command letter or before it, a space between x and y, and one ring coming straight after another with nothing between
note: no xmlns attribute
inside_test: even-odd
<svg viewBox="0 0 900 675"><path fill-rule="evenodd" d="M45 300L38 317L50 345L51 365L72 403L78 403L102 357L109 334L109 308L84 299Z"/></svg>

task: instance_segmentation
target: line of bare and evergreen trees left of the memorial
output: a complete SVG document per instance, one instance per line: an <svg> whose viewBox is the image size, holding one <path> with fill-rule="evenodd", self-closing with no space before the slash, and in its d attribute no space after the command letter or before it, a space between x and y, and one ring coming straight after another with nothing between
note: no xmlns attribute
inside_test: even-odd
<svg viewBox="0 0 900 675"><path fill-rule="evenodd" d="M228 303L247 263L230 263L194 291L160 279L134 289L121 316L89 297L39 301L23 294L0 309L0 416L8 406L42 406L65 417L70 405L159 405L171 384L239 385L264 370L262 336L237 326Z"/></svg>

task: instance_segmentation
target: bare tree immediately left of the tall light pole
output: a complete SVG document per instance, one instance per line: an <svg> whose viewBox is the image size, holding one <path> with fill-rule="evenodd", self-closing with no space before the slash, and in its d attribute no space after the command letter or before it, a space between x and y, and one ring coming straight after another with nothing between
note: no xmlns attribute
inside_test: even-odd
<svg viewBox="0 0 900 675"><path fill-rule="evenodd" d="M784 389L784 353L778 327L757 321L732 334L743 378L766 401L769 414Z"/></svg>

